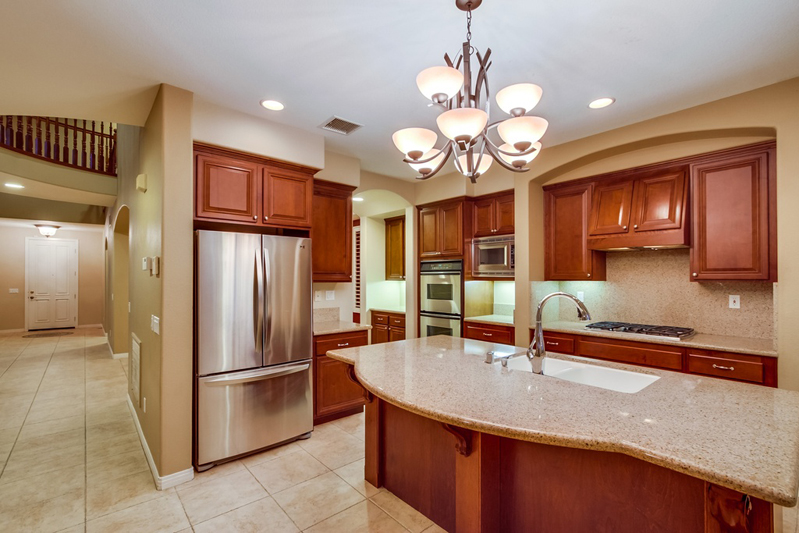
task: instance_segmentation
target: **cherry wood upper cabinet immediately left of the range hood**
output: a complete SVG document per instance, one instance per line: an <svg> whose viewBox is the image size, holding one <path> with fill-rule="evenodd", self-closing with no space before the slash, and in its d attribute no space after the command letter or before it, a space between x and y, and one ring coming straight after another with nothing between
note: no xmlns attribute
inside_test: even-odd
<svg viewBox="0 0 799 533"><path fill-rule="evenodd" d="M588 249L593 184L544 189L544 275L547 280L604 280L605 254Z"/></svg>

